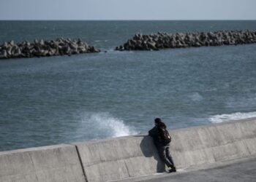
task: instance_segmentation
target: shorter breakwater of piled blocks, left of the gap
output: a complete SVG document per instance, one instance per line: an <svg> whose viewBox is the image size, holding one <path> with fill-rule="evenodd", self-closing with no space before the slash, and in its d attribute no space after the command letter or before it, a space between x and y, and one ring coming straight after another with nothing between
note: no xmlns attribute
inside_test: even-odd
<svg viewBox="0 0 256 182"><path fill-rule="evenodd" d="M14 41L10 41L0 45L0 59L75 55L91 52L100 52L100 50L86 44L81 39L73 41L63 38L56 39L56 41L38 41L36 39L34 42L23 41L15 44Z"/></svg>

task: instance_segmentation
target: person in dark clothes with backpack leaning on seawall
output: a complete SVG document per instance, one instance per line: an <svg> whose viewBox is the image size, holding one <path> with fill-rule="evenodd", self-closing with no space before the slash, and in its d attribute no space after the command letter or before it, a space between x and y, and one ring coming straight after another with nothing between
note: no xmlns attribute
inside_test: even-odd
<svg viewBox="0 0 256 182"><path fill-rule="evenodd" d="M165 142L166 140L165 138L163 138L161 133L161 130L166 130L166 125L159 118L154 119L154 124L155 126L148 131L148 135L153 138L160 159L165 162L165 165L167 165L167 167L170 167L169 172L176 172L176 166L174 165L173 157L170 155L170 140L167 140L167 142ZM167 139L168 138L170 139L170 135L167 132Z"/></svg>

